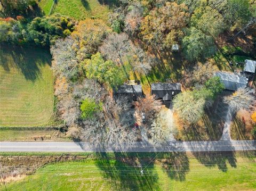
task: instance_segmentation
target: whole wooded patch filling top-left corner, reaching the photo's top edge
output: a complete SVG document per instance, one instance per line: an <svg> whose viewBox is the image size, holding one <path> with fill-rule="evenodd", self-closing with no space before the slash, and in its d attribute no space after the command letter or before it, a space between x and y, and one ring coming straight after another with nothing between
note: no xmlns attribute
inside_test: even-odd
<svg viewBox="0 0 256 191"><path fill-rule="evenodd" d="M67 16L36 16L40 9L35 0L0 0L0 5L0 42L50 47L75 29Z"/></svg>

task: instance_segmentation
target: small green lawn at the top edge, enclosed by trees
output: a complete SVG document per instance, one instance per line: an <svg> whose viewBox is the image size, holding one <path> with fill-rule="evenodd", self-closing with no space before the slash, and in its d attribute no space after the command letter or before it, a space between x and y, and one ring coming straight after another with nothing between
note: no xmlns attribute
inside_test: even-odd
<svg viewBox="0 0 256 191"><path fill-rule="evenodd" d="M107 20L108 5L99 2L98 0L59 0L53 13L60 13L78 20L84 20L92 16Z"/></svg>

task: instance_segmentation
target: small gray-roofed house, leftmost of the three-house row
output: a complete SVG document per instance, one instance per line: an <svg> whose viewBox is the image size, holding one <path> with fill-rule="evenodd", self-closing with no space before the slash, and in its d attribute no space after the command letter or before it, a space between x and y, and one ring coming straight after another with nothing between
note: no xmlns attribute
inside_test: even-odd
<svg viewBox="0 0 256 191"><path fill-rule="evenodd" d="M141 85L121 85L114 91L114 96L126 96L130 101L143 96Z"/></svg>

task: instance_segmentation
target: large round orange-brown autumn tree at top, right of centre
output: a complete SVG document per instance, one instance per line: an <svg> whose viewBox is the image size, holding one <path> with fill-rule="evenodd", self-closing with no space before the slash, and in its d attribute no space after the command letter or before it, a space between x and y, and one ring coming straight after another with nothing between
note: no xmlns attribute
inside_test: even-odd
<svg viewBox="0 0 256 191"><path fill-rule="evenodd" d="M151 10L141 23L143 41L158 48L171 48L179 43L188 22L187 9L183 3L166 2L165 6Z"/></svg>

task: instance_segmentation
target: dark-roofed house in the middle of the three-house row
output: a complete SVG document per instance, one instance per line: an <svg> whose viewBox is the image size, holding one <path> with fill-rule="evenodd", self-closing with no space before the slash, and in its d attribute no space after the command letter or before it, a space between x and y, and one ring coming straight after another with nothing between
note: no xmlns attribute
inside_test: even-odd
<svg viewBox="0 0 256 191"><path fill-rule="evenodd" d="M154 83L151 85L151 95L163 101L171 101L173 96L181 93L180 83Z"/></svg>

